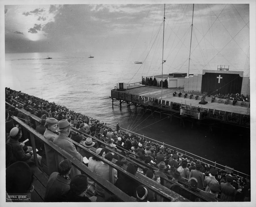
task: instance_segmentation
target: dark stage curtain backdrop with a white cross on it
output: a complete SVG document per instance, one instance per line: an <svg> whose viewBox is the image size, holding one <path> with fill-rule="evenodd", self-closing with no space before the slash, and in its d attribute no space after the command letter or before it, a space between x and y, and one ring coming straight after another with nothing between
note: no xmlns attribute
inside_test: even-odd
<svg viewBox="0 0 256 207"><path fill-rule="evenodd" d="M241 94L243 77L239 74L228 73L205 73L202 77L202 92L208 95L216 92L220 94Z"/></svg>

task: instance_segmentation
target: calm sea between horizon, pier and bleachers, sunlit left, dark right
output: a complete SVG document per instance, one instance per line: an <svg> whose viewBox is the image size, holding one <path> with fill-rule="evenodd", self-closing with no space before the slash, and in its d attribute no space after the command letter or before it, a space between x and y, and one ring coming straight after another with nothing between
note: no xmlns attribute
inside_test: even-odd
<svg viewBox="0 0 256 207"><path fill-rule="evenodd" d="M52 59L44 59L48 57ZM150 118L149 113L135 114L133 107L133 112L129 113L125 104L121 109L117 106L112 109L111 89L116 83L139 82L142 75L154 74L154 69L149 72L147 67L153 68L152 63L133 64L125 57L12 53L5 54L5 86L104 122L114 125L118 122L122 128L250 173L248 129L225 125L222 131L208 132L208 127L202 125L191 129L190 123L185 123L183 128L175 118L170 122L166 117L160 120L158 114L154 118Z"/></svg>

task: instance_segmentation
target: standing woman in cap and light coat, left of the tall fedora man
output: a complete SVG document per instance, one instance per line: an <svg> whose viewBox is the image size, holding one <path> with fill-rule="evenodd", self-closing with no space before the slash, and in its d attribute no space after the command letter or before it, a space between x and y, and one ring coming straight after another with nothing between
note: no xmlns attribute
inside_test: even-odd
<svg viewBox="0 0 256 207"><path fill-rule="evenodd" d="M59 134L56 131L56 128L58 126L58 120L53 117L49 117L48 119L46 119L46 123L44 126L46 127L44 137L47 140L53 142L54 138L57 137ZM57 163L55 161L54 150L47 144L44 144L44 149L46 154L46 162L48 164L48 173L51 174L52 172L57 172Z"/></svg>

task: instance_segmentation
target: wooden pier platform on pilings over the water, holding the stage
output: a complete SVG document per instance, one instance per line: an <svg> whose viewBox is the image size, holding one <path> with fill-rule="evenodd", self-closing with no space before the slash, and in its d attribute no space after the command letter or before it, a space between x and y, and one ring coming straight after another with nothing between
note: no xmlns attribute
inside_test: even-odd
<svg viewBox="0 0 256 207"><path fill-rule="evenodd" d="M176 91L176 96L173 93ZM188 117L191 119L212 119L215 121L221 121L228 124L239 125L250 128L250 103L238 101L236 105L232 104L232 100L229 100L228 104L224 104L224 99L216 98L211 103L211 97L206 97L205 101L208 103L203 105L201 102L201 96L195 100L195 94L193 98L189 99L189 95L193 92L187 92L187 98L184 98L184 93L180 88L161 88L133 85L127 86L127 89L111 90L112 107L119 102L119 107L122 107L123 103L127 103L129 111L131 105L135 106L135 113L137 107L142 107L143 110L150 110L151 115L153 113L173 115L182 119L182 117ZM181 97L178 97L179 92L182 93ZM193 120L191 120L193 122Z"/></svg>

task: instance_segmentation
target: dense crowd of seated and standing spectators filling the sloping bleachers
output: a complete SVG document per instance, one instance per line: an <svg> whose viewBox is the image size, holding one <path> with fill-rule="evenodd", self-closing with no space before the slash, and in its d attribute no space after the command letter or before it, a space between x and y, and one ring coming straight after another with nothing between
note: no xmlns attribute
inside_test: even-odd
<svg viewBox="0 0 256 207"><path fill-rule="evenodd" d="M98 160L97 157L91 156L88 151L77 149L71 139L81 143L89 151L94 147L98 156L102 156L118 166L127 165L127 172L133 175L139 172L192 201L201 200L193 197L193 194L186 194L185 191L182 191L182 188L186 187L211 201L250 200L250 182L247 179L215 169L200 160L153 143L144 137L121 131L119 124L117 124L116 129L112 129L106 123L71 111L54 102L49 103L9 88L6 88L6 91L6 102L17 108L24 108L41 119L39 126L33 126L31 117L20 113L14 107L8 106L6 109L6 172L12 171L8 173L10 178L6 180L7 193L18 193L12 187L13 180L11 179L12 176L15 177L16 175L14 170L16 165L21 165L20 162L25 163L22 166L28 170L28 166L34 164L30 146L19 142L19 140L22 140L21 128L14 126L13 120L9 119L9 116L14 115L81 162L86 157L88 159L86 165L107 181L110 181L108 164ZM21 102L24 105L20 104ZM79 132L90 134L95 139L88 137L84 140L81 133L72 132L72 126ZM108 145L97 142L97 139L108 143ZM26 140L26 137L23 137L23 140ZM46 157L49 168L50 177L46 187L45 201L94 202L99 198L110 202L119 201L116 196L108 194L101 185L87 178L86 175L71 165L70 160L63 160L48 145L37 141L36 148L40 155ZM110 152L110 149L113 148L121 149L120 153L123 157L119 157L117 154L113 155ZM135 163L128 162L125 159L125 157L128 157L127 151L148 167L141 169ZM164 178L168 177L172 177L172 183L164 181ZM27 187L24 187L21 190L22 192L19 193L31 192L32 180L28 179L27 182ZM135 201L162 201L159 195L146 186L139 185L126 174L121 174L115 169L113 171L113 182L115 186L134 198ZM188 182L188 185L185 185L186 182Z"/></svg>

